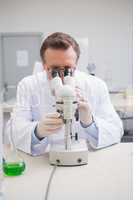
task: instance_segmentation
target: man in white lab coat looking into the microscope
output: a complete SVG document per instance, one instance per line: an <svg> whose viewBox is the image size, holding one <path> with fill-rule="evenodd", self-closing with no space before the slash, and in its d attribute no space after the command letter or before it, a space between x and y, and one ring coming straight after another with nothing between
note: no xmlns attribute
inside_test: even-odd
<svg viewBox="0 0 133 200"><path fill-rule="evenodd" d="M42 43L40 56L44 71L18 84L12 116L16 147L40 155L48 151L51 144L63 142L64 124L56 112L50 88L54 68L58 68L62 80L61 72L65 68L72 70L80 118L74 126L79 137L85 138L93 149L119 143L123 135L122 122L111 104L107 86L99 78L76 69L80 49L74 38L61 32L49 35Z"/></svg>

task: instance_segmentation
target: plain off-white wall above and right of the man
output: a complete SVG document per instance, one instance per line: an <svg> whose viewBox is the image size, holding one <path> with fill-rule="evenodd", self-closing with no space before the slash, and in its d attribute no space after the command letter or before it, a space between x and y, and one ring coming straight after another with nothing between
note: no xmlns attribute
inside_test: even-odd
<svg viewBox="0 0 133 200"><path fill-rule="evenodd" d="M0 0L0 32L28 31L89 37L97 75L116 88L133 84L132 0Z"/></svg>

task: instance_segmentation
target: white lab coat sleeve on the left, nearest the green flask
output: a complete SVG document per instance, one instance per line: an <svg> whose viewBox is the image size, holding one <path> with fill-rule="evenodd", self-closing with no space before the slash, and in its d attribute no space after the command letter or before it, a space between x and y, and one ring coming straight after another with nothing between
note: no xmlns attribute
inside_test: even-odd
<svg viewBox="0 0 133 200"><path fill-rule="evenodd" d="M17 103L13 111L13 138L17 149L32 154L32 133L38 121L32 116L32 86L25 78L18 84ZM10 138L10 121L6 126L6 138Z"/></svg>

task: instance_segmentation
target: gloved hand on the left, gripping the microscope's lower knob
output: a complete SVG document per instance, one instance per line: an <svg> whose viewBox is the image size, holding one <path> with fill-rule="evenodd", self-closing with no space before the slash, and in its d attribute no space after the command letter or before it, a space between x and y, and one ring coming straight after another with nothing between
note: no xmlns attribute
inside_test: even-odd
<svg viewBox="0 0 133 200"><path fill-rule="evenodd" d="M49 113L37 125L37 137L42 139L48 135L54 134L63 127L63 120L59 113Z"/></svg>

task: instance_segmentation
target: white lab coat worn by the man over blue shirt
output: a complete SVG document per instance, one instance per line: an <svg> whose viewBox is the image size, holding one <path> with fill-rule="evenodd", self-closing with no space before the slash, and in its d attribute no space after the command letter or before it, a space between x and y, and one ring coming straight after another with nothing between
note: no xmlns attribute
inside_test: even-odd
<svg viewBox="0 0 133 200"><path fill-rule="evenodd" d="M88 100L94 121L98 128L98 143L90 144L98 149L120 142L123 127L109 98L106 84L99 78L83 72L75 72L76 85L81 88ZM38 121L49 112L54 112L55 98L51 95L50 85L45 71L24 78L17 89L17 105L14 110L13 134L17 148L31 153L31 137ZM78 126L78 127L76 127ZM85 137L84 128L80 123L75 127L80 136ZM7 134L8 134L7 128ZM61 141L63 131L49 136L49 143Z"/></svg>

